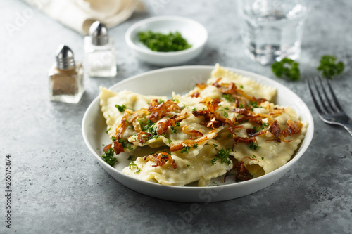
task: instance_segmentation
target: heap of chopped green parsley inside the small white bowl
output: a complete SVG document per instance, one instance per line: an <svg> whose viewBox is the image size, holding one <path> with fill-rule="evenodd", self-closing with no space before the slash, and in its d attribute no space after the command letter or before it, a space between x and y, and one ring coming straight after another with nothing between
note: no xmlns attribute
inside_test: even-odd
<svg viewBox="0 0 352 234"><path fill-rule="evenodd" d="M139 32L138 37L139 41L152 51L170 52L183 51L187 48L191 48L191 44L187 42L187 39L182 37L180 32L162 34L149 30L147 32Z"/></svg>

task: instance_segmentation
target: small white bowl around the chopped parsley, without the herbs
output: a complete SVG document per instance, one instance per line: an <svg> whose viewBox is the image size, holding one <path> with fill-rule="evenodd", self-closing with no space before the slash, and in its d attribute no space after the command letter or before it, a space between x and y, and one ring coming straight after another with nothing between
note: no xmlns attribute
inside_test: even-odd
<svg viewBox="0 0 352 234"><path fill-rule="evenodd" d="M176 52L151 51L138 38L139 32L149 30L163 34L178 31L192 46ZM125 34L127 45L132 49L134 56L153 65L177 65L196 58L203 51L207 39L208 32L203 25L178 16L158 16L141 20L132 25Z"/></svg>

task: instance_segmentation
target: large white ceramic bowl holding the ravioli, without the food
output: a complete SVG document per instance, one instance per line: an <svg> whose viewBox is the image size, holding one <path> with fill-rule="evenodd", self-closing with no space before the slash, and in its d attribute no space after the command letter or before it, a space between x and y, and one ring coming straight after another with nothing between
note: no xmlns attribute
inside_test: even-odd
<svg viewBox="0 0 352 234"><path fill-rule="evenodd" d="M127 89L144 95L170 97L172 91L185 93L193 89L196 84L206 82L206 79L210 77L210 72L213 69L213 66L168 67L130 77L129 79L125 79L111 86L111 89L113 91ZM313 117L303 100L282 84L251 72L232 68L228 69L251 77L262 84L277 88L276 103L284 106L289 105L296 110L301 120L308 122L309 126L306 136L296 151L296 154L287 164L284 164L284 166L279 169L249 181L210 187L163 186L158 183L140 181L137 178L132 178L121 172L122 169L127 167L130 163L128 160L125 160L126 162L119 162L114 168L101 159L101 155L103 155L102 145L110 143L111 140L108 138L108 134L106 134L106 121L101 113L99 98L93 100L83 117L82 134L87 147L103 169L105 169L108 174L111 174L117 181L139 193L165 200L179 202L217 202L249 195L270 186L284 176L284 174L298 162L308 148L314 132Z"/></svg>

